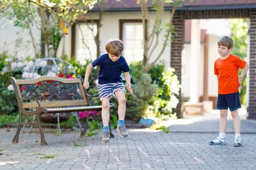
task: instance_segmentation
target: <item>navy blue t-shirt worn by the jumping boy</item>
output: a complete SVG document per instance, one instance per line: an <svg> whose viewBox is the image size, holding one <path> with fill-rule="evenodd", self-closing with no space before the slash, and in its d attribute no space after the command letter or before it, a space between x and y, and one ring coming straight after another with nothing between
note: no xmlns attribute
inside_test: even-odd
<svg viewBox="0 0 256 170"><path fill-rule="evenodd" d="M117 61L112 61L109 54L103 54L92 62L92 66L100 66L100 74L98 75L98 84L121 83L121 73L128 72L129 66L125 57L121 56Z"/></svg>

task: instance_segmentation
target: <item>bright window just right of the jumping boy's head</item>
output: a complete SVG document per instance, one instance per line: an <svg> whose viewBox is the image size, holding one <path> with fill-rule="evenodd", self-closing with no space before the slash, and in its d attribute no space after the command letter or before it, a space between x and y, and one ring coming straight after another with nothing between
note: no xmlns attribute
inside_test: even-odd
<svg viewBox="0 0 256 170"><path fill-rule="evenodd" d="M120 24L122 33L120 39L124 45L123 56L128 63L142 61L144 51L142 20L120 20Z"/></svg>

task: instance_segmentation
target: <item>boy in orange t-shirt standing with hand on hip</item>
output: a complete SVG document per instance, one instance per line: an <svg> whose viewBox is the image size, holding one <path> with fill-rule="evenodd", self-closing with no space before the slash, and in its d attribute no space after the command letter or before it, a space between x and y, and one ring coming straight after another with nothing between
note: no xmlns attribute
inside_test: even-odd
<svg viewBox="0 0 256 170"><path fill-rule="evenodd" d="M217 109L220 109L219 137L210 141L210 145L226 145L226 125L228 108L231 112L235 130L233 146L242 146L240 137L241 120L238 115L238 108L241 108L238 87L242 83L249 65L238 56L230 54L233 48L233 40L229 36L223 36L218 41L218 53L220 58L214 62L214 74L218 78L218 99ZM243 69L238 76L238 69Z"/></svg>

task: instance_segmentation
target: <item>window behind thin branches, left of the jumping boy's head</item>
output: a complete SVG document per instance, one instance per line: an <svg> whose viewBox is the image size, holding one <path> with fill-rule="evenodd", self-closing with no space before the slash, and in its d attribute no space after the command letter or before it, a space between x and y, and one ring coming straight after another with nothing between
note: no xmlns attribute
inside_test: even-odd
<svg viewBox="0 0 256 170"><path fill-rule="evenodd" d="M93 32L91 29L93 29ZM86 59L94 60L97 58L97 47L93 37L96 34L97 22L76 24L76 61L85 64Z"/></svg>

